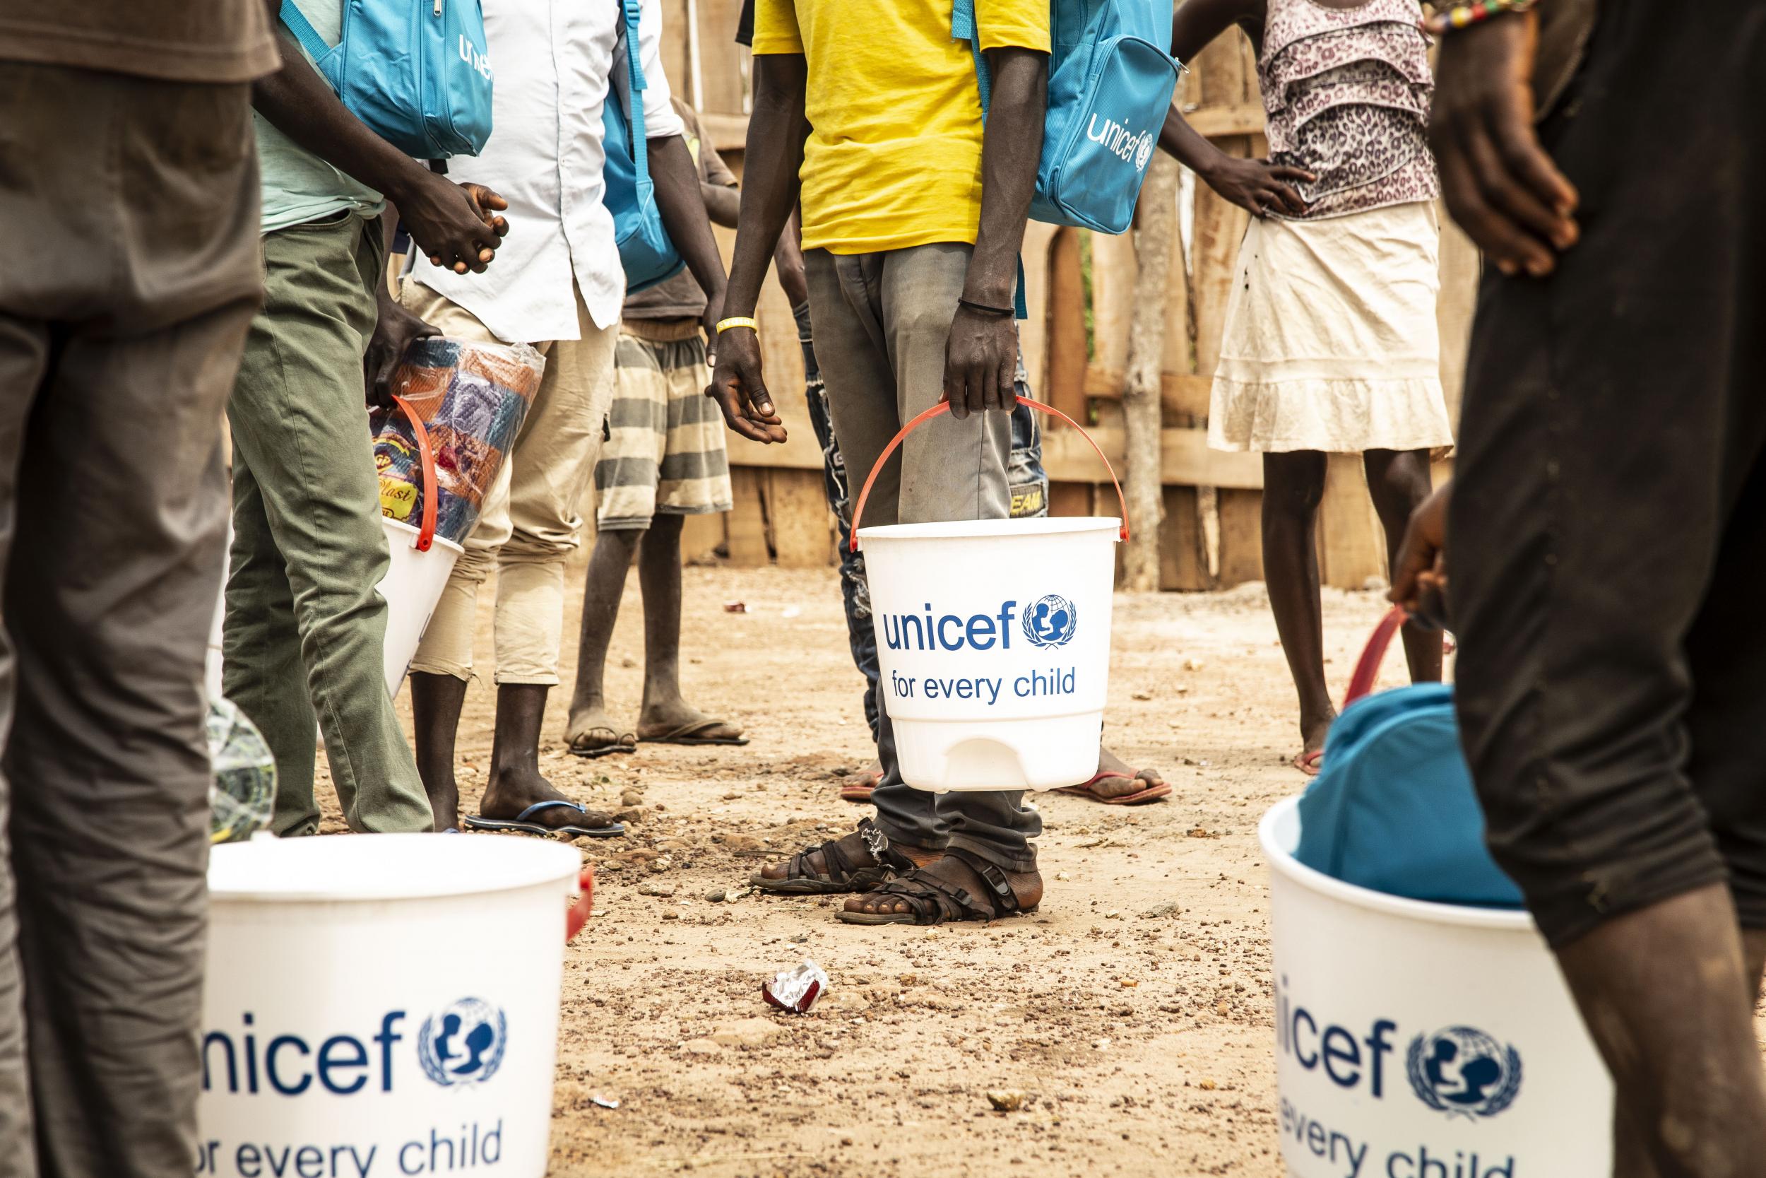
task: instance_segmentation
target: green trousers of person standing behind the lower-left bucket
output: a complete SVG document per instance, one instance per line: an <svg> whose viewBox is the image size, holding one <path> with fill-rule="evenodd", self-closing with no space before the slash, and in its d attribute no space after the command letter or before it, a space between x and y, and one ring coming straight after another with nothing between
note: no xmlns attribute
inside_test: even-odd
<svg viewBox="0 0 1766 1178"><path fill-rule="evenodd" d="M233 427L223 691L275 752L279 835L313 834L314 722L351 830L429 830L387 694L380 480L362 399L380 223L351 214L263 237Z"/></svg>

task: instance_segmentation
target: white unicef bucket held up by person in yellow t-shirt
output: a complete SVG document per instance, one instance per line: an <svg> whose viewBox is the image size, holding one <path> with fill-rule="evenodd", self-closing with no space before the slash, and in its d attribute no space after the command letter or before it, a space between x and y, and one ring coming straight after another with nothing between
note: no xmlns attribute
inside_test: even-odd
<svg viewBox="0 0 1766 1178"><path fill-rule="evenodd" d="M895 434L855 523L895 445L947 410L940 403ZM1121 521L1106 517L857 528L902 781L1060 789L1097 772L1118 539Z"/></svg>

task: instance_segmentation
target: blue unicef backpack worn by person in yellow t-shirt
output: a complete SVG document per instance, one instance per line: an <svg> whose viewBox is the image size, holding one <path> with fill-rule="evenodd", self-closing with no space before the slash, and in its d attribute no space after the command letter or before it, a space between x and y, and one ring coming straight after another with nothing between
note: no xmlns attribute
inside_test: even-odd
<svg viewBox="0 0 1766 1178"><path fill-rule="evenodd" d="M1053 0L1049 16L1049 113L1030 215L1121 233L1178 88L1178 62L1160 48L1171 42L1171 0ZM955 0L950 35L970 42L985 113L975 0Z"/></svg>

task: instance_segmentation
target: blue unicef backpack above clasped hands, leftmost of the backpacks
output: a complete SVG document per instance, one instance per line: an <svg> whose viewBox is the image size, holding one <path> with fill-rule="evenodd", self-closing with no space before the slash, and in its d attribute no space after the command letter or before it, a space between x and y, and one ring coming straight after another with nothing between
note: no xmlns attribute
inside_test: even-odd
<svg viewBox="0 0 1766 1178"><path fill-rule="evenodd" d="M392 147L413 159L484 150L491 55L479 0L343 0L336 46L295 0L281 16L350 113Z"/></svg>

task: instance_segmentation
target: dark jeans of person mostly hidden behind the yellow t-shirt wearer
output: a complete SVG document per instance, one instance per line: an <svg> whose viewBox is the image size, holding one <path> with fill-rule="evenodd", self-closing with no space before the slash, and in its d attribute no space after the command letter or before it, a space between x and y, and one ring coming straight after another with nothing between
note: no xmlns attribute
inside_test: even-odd
<svg viewBox="0 0 1766 1178"><path fill-rule="evenodd" d="M849 551L851 493L846 484L846 459L834 440L834 420L828 417L828 389L821 373L811 364L804 399L809 401L809 422L821 443L821 480L828 507L841 521L841 597L846 599L846 641L853 648L853 666L865 676L865 722L871 740L878 738L878 638L871 625L871 590L865 588L865 555ZM1030 374L1024 357L1017 359L1017 396L1028 397ZM869 473L869 472L867 472ZM1012 410L1012 454L1005 468L1012 484L1012 517L1024 519L1049 514L1049 477L1042 472L1042 426L1028 406Z"/></svg>

